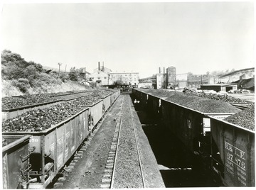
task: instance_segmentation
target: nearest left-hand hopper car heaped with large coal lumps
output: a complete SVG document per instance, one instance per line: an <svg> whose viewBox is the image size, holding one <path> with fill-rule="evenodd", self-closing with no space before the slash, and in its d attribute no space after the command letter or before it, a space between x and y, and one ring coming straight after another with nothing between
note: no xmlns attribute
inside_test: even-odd
<svg viewBox="0 0 256 190"><path fill-rule="evenodd" d="M63 104L60 104L58 107L62 106ZM58 114L60 111L57 108L51 109L52 111L55 111L58 116L63 115ZM46 113L46 110L26 112L18 118L3 122L3 135L31 135L29 146L34 147L34 150L29 158L31 167L28 174L30 179L23 184L26 189L46 188L90 134L89 108L84 108L78 113L68 116L65 120L53 119L43 113ZM30 117L33 114L36 117ZM50 114L54 115L54 113ZM43 123L48 121L57 123L38 125L40 119L43 119L41 115L46 117ZM35 128L36 125L38 125L37 128Z"/></svg>

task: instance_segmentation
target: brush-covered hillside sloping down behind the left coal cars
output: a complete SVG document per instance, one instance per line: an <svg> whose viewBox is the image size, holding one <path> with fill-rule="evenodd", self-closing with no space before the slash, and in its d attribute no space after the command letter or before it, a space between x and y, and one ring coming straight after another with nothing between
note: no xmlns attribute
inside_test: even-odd
<svg viewBox="0 0 256 190"><path fill-rule="evenodd" d="M55 93L89 89L80 84L78 69L70 72L48 71L41 64L26 62L21 55L4 50L1 54L1 95Z"/></svg>

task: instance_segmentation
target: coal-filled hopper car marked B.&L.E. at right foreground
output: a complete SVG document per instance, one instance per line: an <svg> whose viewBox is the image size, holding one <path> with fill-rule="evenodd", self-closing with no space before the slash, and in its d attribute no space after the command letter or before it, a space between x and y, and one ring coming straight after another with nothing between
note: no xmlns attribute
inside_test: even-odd
<svg viewBox="0 0 256 190"><path fill-rule="evenodd" d="M255 106L220 120L210 117L211 167L225 186L255 186Z"/></svg>

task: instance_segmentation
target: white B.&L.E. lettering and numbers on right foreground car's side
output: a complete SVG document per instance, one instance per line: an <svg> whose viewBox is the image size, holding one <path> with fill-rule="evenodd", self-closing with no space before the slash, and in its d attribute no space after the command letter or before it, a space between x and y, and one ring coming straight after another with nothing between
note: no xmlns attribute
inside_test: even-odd
<svg viewBox="0 0 256 190"><path fill-rule="evenodd" d="M246 157L245 152L238 147L225 142L225 167L226 171L232 175L234 181L246 186Z"/></svg>

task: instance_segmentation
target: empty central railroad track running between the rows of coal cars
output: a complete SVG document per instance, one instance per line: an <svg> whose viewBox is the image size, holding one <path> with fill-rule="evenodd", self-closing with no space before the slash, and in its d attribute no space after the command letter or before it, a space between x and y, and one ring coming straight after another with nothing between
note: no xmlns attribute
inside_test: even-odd
<svg viewBox="0 0 256 190"><path fill-rule="evenodd" d="M127 104L128 101L128 104ZM129 123L129 128L127 128ZM125 131L129 130L129 132ZM129 133L130 138L128 140L122 138L122 133ZM129 146L131 151L124 150L124 147ZM131 157L131 164L127 163L127 170L124 169L124 162L129 162L126 155ZM134 155L134 157L132 157ZM133 166L137 163L138 165ZM127 172L129 169L133 169L136 172ZM129 174L137 173L137 176L129 176ZM132 179L134 177L134 179ZM121 179L121 180L120 180ZM142 171L142 162L139 156L139 147L137 143L137 133L134 126L134 118L132 116L131 101L127 96L123 96L122 100L122 115L117 119L117 125L112 140L112 146L110 148L109 157L107 160L107 166L105 174L102 179L101 188L146 188L144 182L144 174Z"/></svg>

